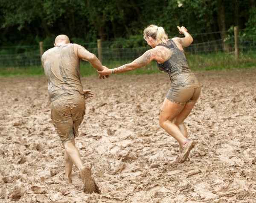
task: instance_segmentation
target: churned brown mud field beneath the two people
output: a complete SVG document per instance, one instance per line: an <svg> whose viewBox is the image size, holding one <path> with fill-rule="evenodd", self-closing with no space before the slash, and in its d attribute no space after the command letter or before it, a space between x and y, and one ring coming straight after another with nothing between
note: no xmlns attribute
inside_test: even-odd
<svg viewBox="0 0 256 203"><path fill-rule="evenodd" d="M170 164L178 144L158 125L166 74L82 78L94 97L76 146L101 194L83 193L75 166L73 184L61 180L46 79L0 78L0 202L255 202L256 69L195 74L201 97L185 124L197 145L183 164Z"/></svg>

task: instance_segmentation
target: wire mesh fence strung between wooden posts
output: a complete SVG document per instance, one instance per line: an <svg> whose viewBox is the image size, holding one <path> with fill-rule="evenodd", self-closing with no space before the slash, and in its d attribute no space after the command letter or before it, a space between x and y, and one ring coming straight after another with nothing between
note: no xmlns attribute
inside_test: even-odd
<svg viewBox="0 0 256 203"><path fill-rule="evenodd" d="M133 61L141 56L150 46L133 47L133 48L111 48L116 42L102 43L102 61ZM81 44L88 51L98 56L97 43ZM44 51L52 48L53 45L43 45ZM215 52L234 52L234 38L218 39L204 43L192 43L185 48L185 52L192 54L209 54ZM249 52L256 50L256 35L246 35L239 37L239 52ZM14 54L9 54L13 52ZM9 46L0 47L0 67L29 67L41 65L41 53L39 45L35 46Z"/></svg>

